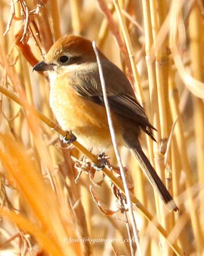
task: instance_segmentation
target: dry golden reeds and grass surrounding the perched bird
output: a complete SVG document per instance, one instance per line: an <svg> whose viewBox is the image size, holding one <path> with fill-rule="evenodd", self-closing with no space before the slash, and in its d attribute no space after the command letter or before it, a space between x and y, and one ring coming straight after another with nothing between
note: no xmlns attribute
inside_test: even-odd
<svg viewBox="0 0 204 256"><path fill-rule="evenodd" d="M0 254L204 255L203 1L1 0L0 13ZM96 41L126 72L157 128L159 144L142 136L142 145L180 212L168 212L122 148L140 201L133 204L138 250L124 242L133 233L119 175L94 175L79 150L94 156L59 142L56 130L64 132L52 123L47 78L32 72L64 34ZM82 237L112 243L69 243Z"/></svg>

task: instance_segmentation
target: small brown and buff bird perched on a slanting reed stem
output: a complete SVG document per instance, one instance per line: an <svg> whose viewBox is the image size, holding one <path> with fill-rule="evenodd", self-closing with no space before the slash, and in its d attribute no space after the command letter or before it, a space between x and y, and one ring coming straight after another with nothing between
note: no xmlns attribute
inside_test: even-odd
<svg viewBox="0 0 204 256"><path fill-rule="evenodd" d="M98 52L117 143L129 148L164 204L177 211L172 196L140 145L141 131L155 140L154 127L124 72L99 49ZM63 130L86 148L101 150L112 145L92 41L73 34L61 37L33 70L48 71L50 106Z"/></svg>

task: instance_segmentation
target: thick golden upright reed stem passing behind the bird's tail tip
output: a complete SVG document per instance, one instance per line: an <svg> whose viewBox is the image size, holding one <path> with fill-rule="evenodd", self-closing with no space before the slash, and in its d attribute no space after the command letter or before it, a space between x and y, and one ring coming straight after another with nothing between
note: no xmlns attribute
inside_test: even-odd
<svg viewBox="0 0 204 256"><path fill-rule="evenodd" d="M165 1L161 1L160 5L156 4L156 1L150 1L150 11L151 11L151 20L152 20L152 28L153 29L153 40L154 46L156 45L156 37L158 36L159 29L163 25L164 19L166 18L166 10L167 5L164 4ZM157 82L157 98L158 98L158 106L159 106L159 124L160 124L160 131L161 131L161 140L160 148L156 149L157 158L154 159L155 167L161 180L165 181L165 165L164 165L164 153L166 153L166 143L167 138L170 135L170 115L168 113L168 66L169 66L169 59L167 54L168 49L168 37L164 38L163 43L159 49L155 51L155 74L156 74L156 82ZM158 127L158 125L156 127ZM155 150L155 145L154 145ZM168 179L167 179L168 180ZM172 191L172 188L170 189ZM174 226L174 215L168 215L166 217L164 212L165 209L163 206L159 206L160 211L160 220L161 223L166 227L168 232ZM163 240L162 240L163 241ZM162 248L164 254L172 255L173 251L169 250L169 247L166 243L162 244Z"/></svg>

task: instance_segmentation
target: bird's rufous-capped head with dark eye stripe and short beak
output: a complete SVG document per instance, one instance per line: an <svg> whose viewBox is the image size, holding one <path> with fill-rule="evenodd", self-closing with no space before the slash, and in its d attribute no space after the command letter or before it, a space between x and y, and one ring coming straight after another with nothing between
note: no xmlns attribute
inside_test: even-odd
<svg viewBox="0 0 204 256"><path fill-rule="evenodd" d="M105 58L99 51L100 57ZM44 61L34 65L36 71L52 71L57 74L75 72L96 64L92 42L82 36L64 36L48 51Z"/></svg>

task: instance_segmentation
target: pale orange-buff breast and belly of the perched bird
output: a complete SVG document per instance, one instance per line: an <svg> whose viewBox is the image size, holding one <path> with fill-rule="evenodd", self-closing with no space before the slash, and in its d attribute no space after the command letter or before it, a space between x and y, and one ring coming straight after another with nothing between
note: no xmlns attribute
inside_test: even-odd
<svg viewBox="0 0 204 256"><path fill-rule="evenodd" d="M68 84L55 83L50 89L50 106L59 125L71 131L86 148L108 148L111 143L105 108L76 94ZM122 141L117 117L112 117L117 141Z"/></svg>

